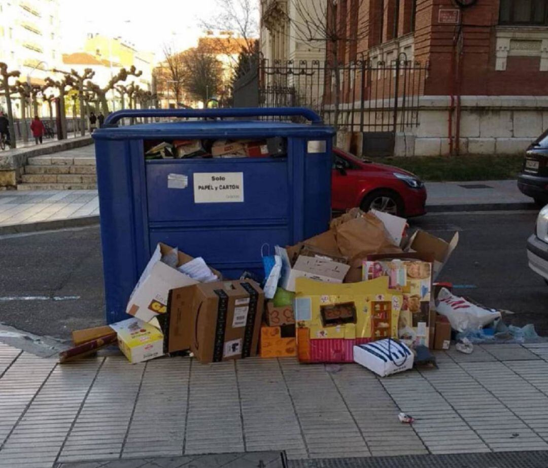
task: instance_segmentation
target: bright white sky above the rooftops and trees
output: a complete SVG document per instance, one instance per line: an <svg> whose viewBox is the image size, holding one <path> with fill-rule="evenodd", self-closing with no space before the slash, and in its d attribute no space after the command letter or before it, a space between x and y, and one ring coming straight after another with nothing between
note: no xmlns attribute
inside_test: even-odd
<svg viewBox="0 0 548 468"><path fill-rule="evenodd" d="M164 43L173 43L178 50L196 45L203 31L201 21L214 14L215 4L215 0L60 0L64 49L71 44L77 51L86 34L95 32L122 36L137 49L154 52L159 61Z"/></svg>

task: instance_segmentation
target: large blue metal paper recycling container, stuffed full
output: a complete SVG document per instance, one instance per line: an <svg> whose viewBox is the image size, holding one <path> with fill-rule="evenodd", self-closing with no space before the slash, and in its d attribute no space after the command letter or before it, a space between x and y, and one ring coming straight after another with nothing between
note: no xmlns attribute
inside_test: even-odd
<svg viewBox="0 0 548 468"><path fill-rule="evenodd" d="M258 116L300 116L310 123L253 120ZM124 117L190 120L118 127ZM201 256L224 278L237 279L246 270L261 273L262 245L293 245L326 230L333 135L332 127L305 108L110 114L93 133L107 322L127 318L128 298L158 242ZM263 138L282 142L287 152L145 160L145 145L152 143Z"/></svg>

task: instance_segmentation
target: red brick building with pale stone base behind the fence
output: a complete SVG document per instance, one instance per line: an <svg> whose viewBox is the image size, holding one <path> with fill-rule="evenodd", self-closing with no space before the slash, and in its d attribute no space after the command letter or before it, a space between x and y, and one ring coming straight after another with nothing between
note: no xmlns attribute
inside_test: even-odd
<svg viewBox="0 0 548 468"><path fill-rule="evenodd" d="M517 153L548 128L548 0L338 0L335 16L343 66L427 65L414 77L416 119L394 129L396 154ZM397 94L401 107L402 81L368 99L393 106ZM350 92L359 83L341 89L352 112L365 108Z"/></svg>

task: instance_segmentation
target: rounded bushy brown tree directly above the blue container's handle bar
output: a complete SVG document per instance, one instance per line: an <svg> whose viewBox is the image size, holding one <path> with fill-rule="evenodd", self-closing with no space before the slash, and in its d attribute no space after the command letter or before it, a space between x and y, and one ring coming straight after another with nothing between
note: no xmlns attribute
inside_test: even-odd
<svg viewBox="0 0 548 468"><path fill-rule="evenodd" d="M223 84L222 63L213 54L200 48L191 48L182 53L184 63L184 88L195 99L207 105L211 96L219 93Z"/></svg>

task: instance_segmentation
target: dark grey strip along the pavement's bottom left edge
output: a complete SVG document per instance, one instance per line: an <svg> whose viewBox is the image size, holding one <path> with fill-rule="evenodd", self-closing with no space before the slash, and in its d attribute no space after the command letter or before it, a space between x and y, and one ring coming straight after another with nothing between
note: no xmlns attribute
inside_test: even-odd
<svg viewBox="0 0 548 468"><path fill-rule="evenodd" d="M186 457L118 458L116 460L71 461L55 468L287 468L283 452L220 453Z"/></svg>

